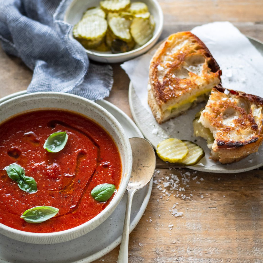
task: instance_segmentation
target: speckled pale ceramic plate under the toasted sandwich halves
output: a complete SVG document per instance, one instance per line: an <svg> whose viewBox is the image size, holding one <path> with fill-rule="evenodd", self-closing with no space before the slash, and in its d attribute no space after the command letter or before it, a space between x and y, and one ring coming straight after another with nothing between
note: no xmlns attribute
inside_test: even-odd
<svg viewBox="0 0 263 263"><path fill-rule="evenodd" d="M255 39L249 38L250 42L255 46L257 50L263 55L263 44ZM158 45L158 44L157 44ZM198 112L202 107L205 106L205 103L199 104L194 109L188 110L185 114L180 115L173 119L173 125L170 127L170 124L161 124L159 125L153 114L148 112L147 110L141 111L144 106L141 104L141 100L136 95L136 92L133 88L132 83L129 85L129 104L131 108L131 113L135 120L135 123L143 133L144 137L150 141L153 147L156 149L156 146L161 140L166 139L168 136L175 137L179 139L185 139L184 132L186 129L192 129L193 125L192 121L196 112ZM193 134L193 131L191 132ZM191 141L196 141L198 145L200 145L204 151L206 156L210 156L210 150L207 147L207 143L204 139L200 137L191 136ZM200 164L194 166L188 166L190 169L198 170L198 171L206 171L206 172L216 172L216 173L239 173L244 171L249 171L252 169L256 169L263 165L262 160L263 155L263 147L260 147L258 153L251 154L246 158L242 159L237 163L223 165L219 162L215 163L213 166L203 166ZM205 163L204 157L201 162Z"/></svg>

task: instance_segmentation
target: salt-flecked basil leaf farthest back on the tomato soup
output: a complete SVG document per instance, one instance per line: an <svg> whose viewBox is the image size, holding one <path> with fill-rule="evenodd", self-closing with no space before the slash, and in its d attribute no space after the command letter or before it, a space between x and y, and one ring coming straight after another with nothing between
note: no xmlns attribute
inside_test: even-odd
<svg viewBox="0 0 263 263"><path fill-rule="evenodd" d="M67 132L58 131L49 135L43 147L50 153L57 153L65 147L67 140L68 140Z"/></svg>

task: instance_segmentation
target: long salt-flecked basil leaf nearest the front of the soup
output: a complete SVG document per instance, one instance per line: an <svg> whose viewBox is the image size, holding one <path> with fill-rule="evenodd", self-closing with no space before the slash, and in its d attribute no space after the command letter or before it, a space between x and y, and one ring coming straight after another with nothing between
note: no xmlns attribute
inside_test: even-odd
<svg viewBox="0 0 263 263"><path fill-rule="evenodd" d="M59 209L53 206L34 206L26 211L20 218L28 223L38 224L42 223L58 213Z"/></svg>

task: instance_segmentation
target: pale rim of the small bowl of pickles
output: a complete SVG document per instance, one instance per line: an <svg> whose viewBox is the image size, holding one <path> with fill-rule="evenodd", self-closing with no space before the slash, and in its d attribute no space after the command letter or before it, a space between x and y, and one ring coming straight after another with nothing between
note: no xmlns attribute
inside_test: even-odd
<svg viewBox="0 0 263 263"><path fill-rule="evenodd" d="M71 4L68 6L68 8L66 9L66 12L65 12L65 15L64 15L64 21L65 22L67 22L68 14L70 13L71 7L77 1L78 0L73 0L71 2ZM128 52L123 52L123 53L117 53L117 54L100 53L100 52L92 51L92 50L89 50L89 49L85 49L86 53L88 55L92 55L92 58L94 58L94 57L99 57L100 59L103 59L103 58L105 58L105 59L111 59L111 58L112 59L114 59L114 58L117 59L118 58L118 59L120 59L120 61L123 61L121 59L125 59L125 57L127 57L127 56L132 58L132 57L135 57L137 55L137 53L139 53L139 54L143 53L144 49L145 49L145 52L146 52L146 48L150 49L156 43L156 41L158 40L158 38L161 35L161 32L163 30L164 17L163 17L163 10L161 9L160 4L156 0L149 0L149 1L154 3L154 6L156 7L156 10L158 11L158 15L159 15L160 19L158 20L159 21L159 27L156 29L155 34L153 35L153 37L148 42L146 42L141 47L138 47L138 48L135 48L133 50L130 50ZM73 36L70 33L69 33L69 37L73 38ZM109 60L109 62L111 62L111 61Z"/></svg>

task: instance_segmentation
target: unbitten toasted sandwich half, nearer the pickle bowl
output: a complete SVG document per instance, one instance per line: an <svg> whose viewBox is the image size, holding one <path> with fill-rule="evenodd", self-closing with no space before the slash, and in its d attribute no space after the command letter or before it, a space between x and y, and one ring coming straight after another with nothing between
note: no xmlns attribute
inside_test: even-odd
<svg viewBox="0 0 263 263"><path fill-rule="evenodd" d="M148 103L163 123L208 98L221 70L205 44L191 32L172 34L150 61Z"/></svg>

